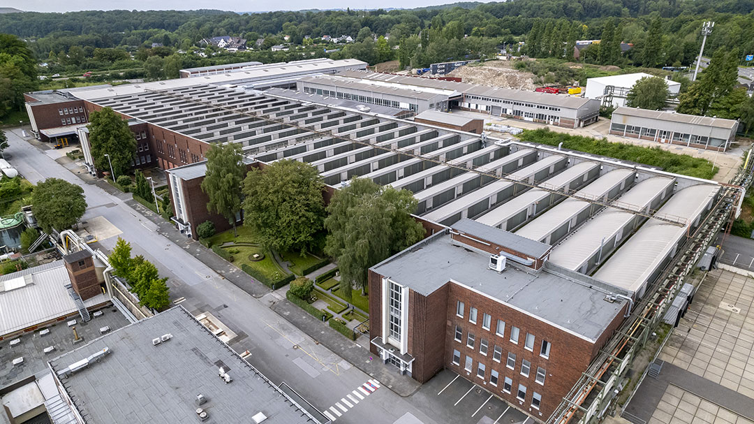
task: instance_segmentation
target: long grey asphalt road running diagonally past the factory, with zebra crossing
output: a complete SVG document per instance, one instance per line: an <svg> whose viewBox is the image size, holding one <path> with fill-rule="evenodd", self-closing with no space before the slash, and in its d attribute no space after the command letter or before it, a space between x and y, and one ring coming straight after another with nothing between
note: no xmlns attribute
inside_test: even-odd
<svg viewBox="0 0 754 424"><path fill-rule="evenodd" d="M43 152L32 146L20 137L18 129L6 131L6 134L9 146L5 152L12 155L11 165L23 177L32 183L57 177L82 186L88 204L82 220L101 216L117 226L122 232L119 236L130 242L132 254L144 255L155 263L161 275L169 278L173 300L185 298L180 304L189 312L198 315L209 311L238 333L237 340L231 342L231 346L241 352L244 348L249 349L252 353L250 363L275 383L287 383L319 410L328 410L336 422L447 422L447 401L437 395L422 395L431 386L409 398L401 398L391 390L380 387L357 403L351 401L351 398L356 398L355 393L360 386L372 379L371 376L315 343L271 311L263 300L253 298L205 266L194 257L198 252L189 250L194 248L189 246L189 241L176 245L158 234L154 223L124 204L129 195L116 197L98 186L85 183L54 160L53 157L60 155L59 152ZM113 236L100 240L100 244L112 249L117 238ZM352 406L348 407L348 403ZM493 404L494 409L491 407ZM500 415L500 404L504 403L498 399L492 399L484 408L472 403L458 404L453 407L458 416L453 422L477 423L485 416L492 422ZM342 415L336 416L333 411ZM523 414L511 408L505 419L506 422L522 422L524 418Z"/></svg>

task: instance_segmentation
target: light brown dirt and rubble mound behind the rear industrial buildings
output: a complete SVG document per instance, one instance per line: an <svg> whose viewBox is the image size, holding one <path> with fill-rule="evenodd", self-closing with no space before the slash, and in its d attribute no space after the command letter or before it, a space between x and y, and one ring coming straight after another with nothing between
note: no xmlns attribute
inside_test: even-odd
<svg viewBox="0 0 754 424"><path fill-rule="evenodd" d="M447 76L460 77L470 84L482 84L499 88L516 88L518 90L534 90L535 75L531 72L521 72L513 69L507 60L491 60L480 65L461 66L449 72Z"/></svg>

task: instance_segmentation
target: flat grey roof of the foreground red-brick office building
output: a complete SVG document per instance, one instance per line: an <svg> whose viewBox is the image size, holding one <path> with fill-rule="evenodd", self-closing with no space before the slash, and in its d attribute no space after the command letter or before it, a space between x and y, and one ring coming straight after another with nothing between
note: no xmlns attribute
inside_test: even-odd
<svg viewBox="0 0 754 424"><path fill-rule="evenodd" d="M488 266L489 253L455 244L440 232L372 270L423 295L452 281L592 343L624 306L623 300L608 303L604 291L547 269L529 272L508 265L498 274Z"/></svg>

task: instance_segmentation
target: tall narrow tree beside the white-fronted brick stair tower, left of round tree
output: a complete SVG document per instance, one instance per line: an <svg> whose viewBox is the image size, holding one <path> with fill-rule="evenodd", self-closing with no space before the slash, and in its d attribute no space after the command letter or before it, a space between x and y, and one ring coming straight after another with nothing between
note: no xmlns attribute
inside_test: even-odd
<svg viewBox="0 0 754 424"><path fill-rule="evenodd" d="M220 214L233 226L236 233L236 215L241 210L241 183L246 174L244 156L237 143L214 144L205 154L207 174L201 190L210 201L207 210Z"/></svg>

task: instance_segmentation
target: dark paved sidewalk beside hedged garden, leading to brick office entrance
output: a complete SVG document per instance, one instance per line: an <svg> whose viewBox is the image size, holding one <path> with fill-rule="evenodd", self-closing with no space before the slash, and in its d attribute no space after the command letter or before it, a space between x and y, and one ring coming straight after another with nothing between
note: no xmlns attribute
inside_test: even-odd
<svg viewBox="0 0 754 424"><path fill-rule="evenodd" d="M382 364L377 355L364 349L358 343L346 339L341 333L323 325L306 311L287 300L282 300L271 307L274 312L285 318L310 336L317 343L335 352L364 373L377 379L383 386L391 389L403 398L416 392L421 384L409 376L402 376L398 370ZM364 337L364 336L362 336Z"/></svg>

